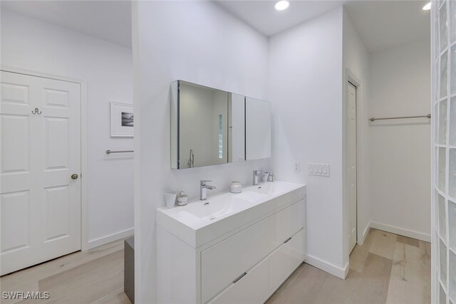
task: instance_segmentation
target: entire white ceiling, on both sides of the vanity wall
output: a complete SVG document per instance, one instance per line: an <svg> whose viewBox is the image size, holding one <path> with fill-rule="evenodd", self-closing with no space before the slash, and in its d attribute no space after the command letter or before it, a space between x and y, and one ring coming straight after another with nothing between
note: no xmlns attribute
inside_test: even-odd
<svg viewBox="0 0 456 304"><path fill-rule="evenodd" d="M312 19L345 4L368 51L430 37L428 0L415 1L291 1L289 9L276 11L276 1L217 0L219 6L266 36ZM130 1L5 1L9 9L48 23L86 33L131 48Z"/></svg>

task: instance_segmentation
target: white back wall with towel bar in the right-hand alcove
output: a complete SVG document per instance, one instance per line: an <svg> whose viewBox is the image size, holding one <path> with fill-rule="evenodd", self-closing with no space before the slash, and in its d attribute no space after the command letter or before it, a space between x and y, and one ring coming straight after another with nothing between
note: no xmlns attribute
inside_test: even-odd
<svg viewBox="0 0 456 304"><path fill-rule="evenodd" d="M430 113L428 39L371 53L369 68L371 117ZM430 120L373 122L369 134L373 222L430 240Z"/></svg>

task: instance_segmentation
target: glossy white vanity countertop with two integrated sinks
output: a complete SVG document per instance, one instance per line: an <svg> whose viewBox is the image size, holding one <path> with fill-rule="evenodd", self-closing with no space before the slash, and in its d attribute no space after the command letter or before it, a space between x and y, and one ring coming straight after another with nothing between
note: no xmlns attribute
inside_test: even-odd
<svg viewBox="0 0 456 304"><path fill-rule="evenodd" d="M225 192L195 199L186 206L157 209L157 224L197 248L236 229L242 229L255 219L303 199L304 184L264 182L243 189L239 194Z"/></svg>

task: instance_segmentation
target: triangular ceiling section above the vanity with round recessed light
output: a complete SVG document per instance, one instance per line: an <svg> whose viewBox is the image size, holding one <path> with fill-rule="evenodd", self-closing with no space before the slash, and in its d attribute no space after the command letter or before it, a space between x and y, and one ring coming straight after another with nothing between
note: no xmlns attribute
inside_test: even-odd
<svg viewBox="0 0 456 304"><path fill-rule="evenodd" d="M289 9L276 11L276 1L217 0L223 9L266 36L285 31L318 15L341 6L346 1L290 1Z"/></svg>

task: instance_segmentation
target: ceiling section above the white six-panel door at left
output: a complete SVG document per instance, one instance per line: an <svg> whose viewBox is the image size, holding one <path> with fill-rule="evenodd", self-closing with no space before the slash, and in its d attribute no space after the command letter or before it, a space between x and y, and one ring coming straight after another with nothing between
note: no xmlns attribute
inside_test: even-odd
<svg viewBox="0 0 456 304"><path fill-rule="evenodd" d="M131 48L130 1L1 0L1 9Z"/></svg>

